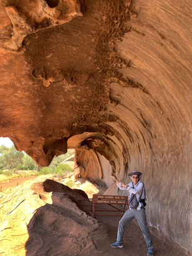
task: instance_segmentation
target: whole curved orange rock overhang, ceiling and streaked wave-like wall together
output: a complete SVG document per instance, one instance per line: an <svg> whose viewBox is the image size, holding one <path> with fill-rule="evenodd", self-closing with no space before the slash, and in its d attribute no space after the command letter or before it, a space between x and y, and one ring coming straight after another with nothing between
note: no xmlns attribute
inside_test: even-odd
<svg viewBox="0 0 192 256"><path fill-rule="evenodd" d="M27 3L26 3L27 2ZM191 2L4 0L1 136L77 176L143 173L148 220L190 250Z"/></svg>

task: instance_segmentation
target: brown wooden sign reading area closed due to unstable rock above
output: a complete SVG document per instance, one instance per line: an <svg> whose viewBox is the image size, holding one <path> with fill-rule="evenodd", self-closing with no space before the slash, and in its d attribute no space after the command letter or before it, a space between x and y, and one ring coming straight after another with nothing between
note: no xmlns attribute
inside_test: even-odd
<svg viewBox="0 0 192 256"><path fill-rule="evenodd" d="M96 204L107 204L110 205L110 207L113 207L115 210L99 210L95 209ZM118 209L113 204L121 204L124 205L123 210ZM93 195L92 202L90 205L90 214L92 217L95 218L95 215L105 215L105 216L123 216L125 205L127 205L128 208L128 197L122 196L122 195ZM121 214L95 214L95 211L100 212L120 212Z"/></svg>

